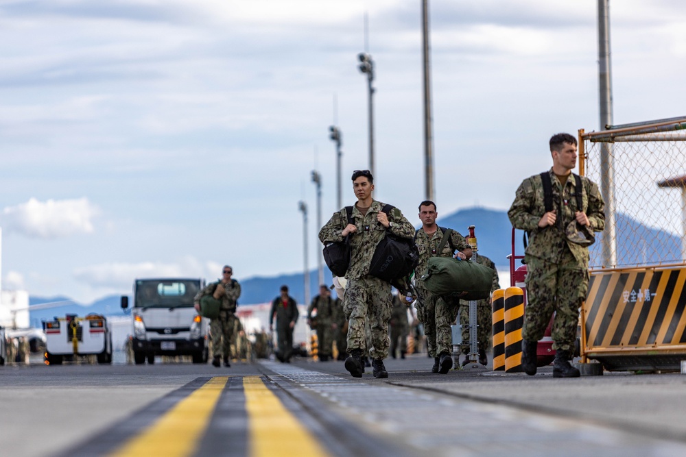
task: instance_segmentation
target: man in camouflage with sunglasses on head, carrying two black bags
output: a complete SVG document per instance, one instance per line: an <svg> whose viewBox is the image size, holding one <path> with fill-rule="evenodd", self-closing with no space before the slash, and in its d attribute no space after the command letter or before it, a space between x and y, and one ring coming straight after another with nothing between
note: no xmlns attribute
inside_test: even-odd
<svg viewBox="0 0 686 457"><path fill-rule="evenodd" d="M369 321L372 338L369 355L372 358L372 373L375 378L388 378L383 359L388 357L388 321L390 321L392 304L390 284L369 275L369 267L379 241L392 233L401 238L412 238L414 227L407 221L398 208L390 214L381 212L384 204L372 199L374 178L369 170L357 170L353 173L353 190L357 203L353 206L355 223L348 224L345 208L333 213L333 217L322 227L319 239L327 245L343 240L351 235L351 261L346 273L348 283L343 308L348 317L347 351L345 367L355 378L362 378L364 365L362 354L364 341L364 323Z"/></svg>

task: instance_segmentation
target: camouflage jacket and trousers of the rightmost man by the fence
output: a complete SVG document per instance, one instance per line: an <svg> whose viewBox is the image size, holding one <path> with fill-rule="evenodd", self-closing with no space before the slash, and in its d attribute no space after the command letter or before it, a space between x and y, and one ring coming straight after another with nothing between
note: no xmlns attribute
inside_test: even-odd
<svg viewBox="0 0 686 457"><path fill-rule="evenodd" d="M598 186L582 176L583 208L577 208L574 177L569 175L563 189L552 168L549 173L553 210L556 211L554 226L538 226L545 214L540 175L528 177L521 183L508 211L513 227L530 230L530 243L524 256L528 268L525 280L528 304L524 312L522 338L526 341L543 338L555 312L553 349L573 351L579 308L588 293L589 249L567 240L565 227L574 220L576 211L583 211L589 218L591 229L600 232L605 227L605 203Z"/></svg>

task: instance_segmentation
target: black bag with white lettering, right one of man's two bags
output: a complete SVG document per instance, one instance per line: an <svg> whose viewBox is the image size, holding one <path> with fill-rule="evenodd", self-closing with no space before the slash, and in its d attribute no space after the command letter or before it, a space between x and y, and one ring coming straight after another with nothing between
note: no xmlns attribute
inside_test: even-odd
<svg viewBox="0 0 686 457"><path fill-rule="evenodd" d="M392 205L385 205L381 212L389 214ZM400 238L391 233L379 241L372 262L369 266L369 274L380 280L391 282L414 271L419 263L419 250L414 244L413 238Z"/></svg>

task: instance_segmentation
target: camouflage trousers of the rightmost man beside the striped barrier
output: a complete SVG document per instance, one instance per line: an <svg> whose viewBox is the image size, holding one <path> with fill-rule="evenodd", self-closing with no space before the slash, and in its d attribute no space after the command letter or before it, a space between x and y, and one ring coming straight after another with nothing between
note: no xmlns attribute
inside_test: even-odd
<svg viewBox="0 0 686 457"><path fill-rule="evenodd" d="M521 336L527 341L543 338L550 318L553 349L573 351L579 308L589 290L589 271L580 268L571 252L563 254L559 263L526 256L528 274L526 293L528 303L524 309Z"/></svg>

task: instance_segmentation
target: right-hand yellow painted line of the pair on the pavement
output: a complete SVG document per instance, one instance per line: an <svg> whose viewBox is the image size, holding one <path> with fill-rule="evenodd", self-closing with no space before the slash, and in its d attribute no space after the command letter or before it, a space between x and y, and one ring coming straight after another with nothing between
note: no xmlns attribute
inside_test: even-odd
<svg viewBox="0 0 686 457"><path fill-rule="evenodd" d="M251 457L328 456L259 376L243 378ZM163 454L160 454L163 455Z"/></svg>

